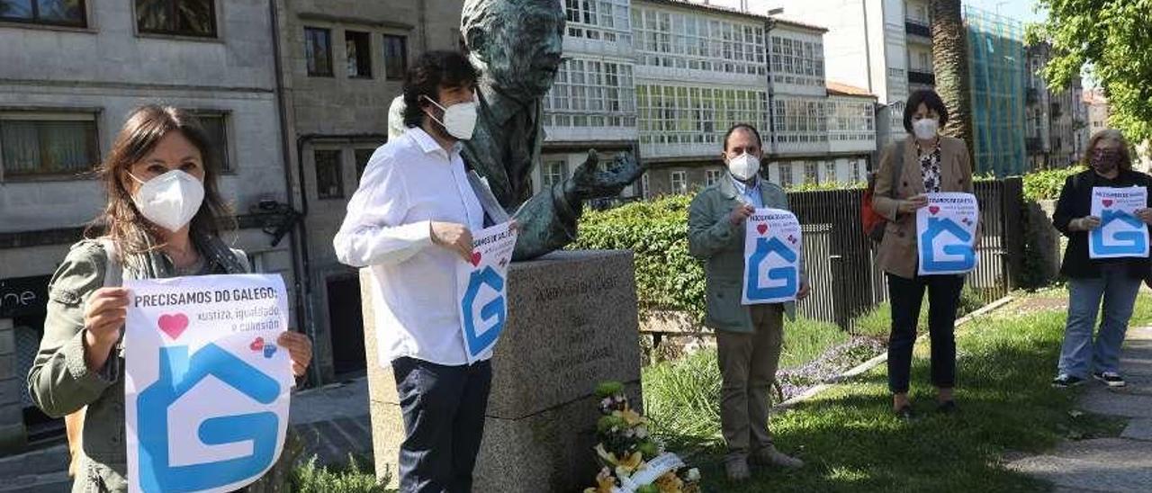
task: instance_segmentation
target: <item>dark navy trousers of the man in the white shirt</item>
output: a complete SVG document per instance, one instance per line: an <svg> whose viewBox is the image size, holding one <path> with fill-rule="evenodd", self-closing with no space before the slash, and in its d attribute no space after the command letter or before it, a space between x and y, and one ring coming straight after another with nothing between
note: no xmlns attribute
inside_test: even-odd
<svg viewBox="0 0 1152 493"><path fill-rule="evenodd" d="M404 418L401 493L471 492L492 364L445 366L404 357L392 370Z"/></svg>

